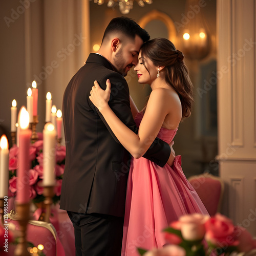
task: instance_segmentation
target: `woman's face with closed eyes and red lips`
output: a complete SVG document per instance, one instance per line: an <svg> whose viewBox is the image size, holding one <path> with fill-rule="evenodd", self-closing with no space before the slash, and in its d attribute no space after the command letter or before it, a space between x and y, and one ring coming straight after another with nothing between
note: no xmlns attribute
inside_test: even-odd
<svg viewBox="0 0 256 256"><path fill-rule="evenodd" d="M145 66L147 68L145 68ZM157 78L157 67L154 66L152 60L147 57L141 57L141 51L139 53L139 61L134 67L134 70L137 71L139 83L148 83L151 84Z"/></svg>

